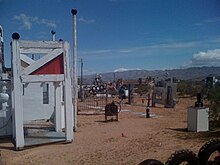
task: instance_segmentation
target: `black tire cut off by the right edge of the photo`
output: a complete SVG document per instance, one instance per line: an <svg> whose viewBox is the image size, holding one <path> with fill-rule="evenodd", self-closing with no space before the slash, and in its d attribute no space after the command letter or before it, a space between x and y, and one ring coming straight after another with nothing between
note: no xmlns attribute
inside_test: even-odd
<svg viewBox="0 0 220 165"><path fill-rule="evenodd" d="M207 165L209 157L215 151L218 151L220 154L220 139L211 139L200 148L199 153L198 153L200 164ZM220 162L219 160L216 160L216 161L218 161L218 163Z"/></svg>

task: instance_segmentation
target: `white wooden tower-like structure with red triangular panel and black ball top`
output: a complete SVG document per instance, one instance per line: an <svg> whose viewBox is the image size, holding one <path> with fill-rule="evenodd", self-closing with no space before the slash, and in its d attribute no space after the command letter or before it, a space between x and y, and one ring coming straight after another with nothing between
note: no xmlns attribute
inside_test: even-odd
<svg viewBox="0 0 220 165"><path fill-rule="evenodd" d="M71 142L76 115L73 114L72 109L69 44L63 41L22 41L19 38L17 33L12 35L11 95L15 147L17 150L25 147L24 121L40 119L47 110L49 113L46 115L54 112L56 131L61 132L64 122L61 118L62 100L65 112L65 139ZM32 54L39 54L41 58L35 61L30 57ZM53 97L50 104L44 105L39 102L40 96L36 89L42 86L52 91L51 95L46 94L48 98ZM62 89L64 98L62 98ZM42 94L42 91L40 92Z"/></svg>

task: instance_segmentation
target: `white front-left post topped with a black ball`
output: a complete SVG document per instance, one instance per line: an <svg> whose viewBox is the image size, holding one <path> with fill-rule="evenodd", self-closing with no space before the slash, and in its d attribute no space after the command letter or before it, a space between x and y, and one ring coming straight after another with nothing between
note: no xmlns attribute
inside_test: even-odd
<svg viewBox="0 0 220 165"><path fill-rule="evenodd" d="M12 34L12 114L16 150L24 147L22 83L19 76L21 72L19 38L18 33Z"/></svg>

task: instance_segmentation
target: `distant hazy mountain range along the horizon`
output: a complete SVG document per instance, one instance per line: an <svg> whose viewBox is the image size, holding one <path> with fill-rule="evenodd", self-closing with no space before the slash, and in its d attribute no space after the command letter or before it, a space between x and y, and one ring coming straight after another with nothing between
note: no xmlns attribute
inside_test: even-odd
<svg viewBox="0 0 220 165"><path fill-rule="evenodd" d="M187 69L172 69L172 70L129 70L123 72L102 73L103 81L113 81L114 79L137 80L138 78L145 79L151 77L176 77L179 80L202 80L207 76L213 75L220 77L220 67L193 67ZM91 83L95 78L93 75L85 75L84 83Z"/></svg>

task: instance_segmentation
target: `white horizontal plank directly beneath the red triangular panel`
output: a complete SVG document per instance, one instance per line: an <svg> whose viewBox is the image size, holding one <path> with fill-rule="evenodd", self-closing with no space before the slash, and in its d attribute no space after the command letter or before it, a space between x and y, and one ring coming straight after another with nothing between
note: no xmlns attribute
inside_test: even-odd
<svg viewBox="0 0 220 165"><path fill-rule="evenodd" d="M64 81L63 74L47 74L47 75L22 75L22 83L36 83L36 82L60 82Z"/></svg>

